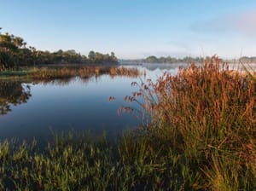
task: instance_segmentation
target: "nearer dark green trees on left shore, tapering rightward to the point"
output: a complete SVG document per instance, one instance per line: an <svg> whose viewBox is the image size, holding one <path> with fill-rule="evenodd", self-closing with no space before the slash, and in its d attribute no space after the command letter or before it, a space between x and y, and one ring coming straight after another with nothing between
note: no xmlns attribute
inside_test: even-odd
<svg viewBox="0 0 256 191"><path fill-rule="evenodd" d="M1 30L1 28L0 28ZM102 54L90 51L88 57L80 55L75 50L42 51L34 47L26 47L23 38L0 31L0 71L18 69L23 66L38 66L58 63L117 63L114 53Z"/></svg>

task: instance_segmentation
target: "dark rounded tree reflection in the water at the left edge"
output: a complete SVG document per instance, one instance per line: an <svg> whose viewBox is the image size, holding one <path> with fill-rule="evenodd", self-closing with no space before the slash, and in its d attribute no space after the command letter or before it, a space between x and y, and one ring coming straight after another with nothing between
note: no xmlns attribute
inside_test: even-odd
<svg viewBox="0 0 256 191"><path fill-rule="evenodd" d="M11 105L26 103L31 97L30 86L16 81L0 81L0 114L11 111Z"/></svg>

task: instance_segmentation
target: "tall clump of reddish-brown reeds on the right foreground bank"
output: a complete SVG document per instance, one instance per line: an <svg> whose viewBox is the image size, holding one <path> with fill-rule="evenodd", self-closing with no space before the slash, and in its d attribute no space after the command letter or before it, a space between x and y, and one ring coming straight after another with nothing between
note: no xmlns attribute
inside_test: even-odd
<svg viewBox="0 0 256 191"><path fill-rule="evenodd" d="M254 79L212 57L156 84L148 80L128 98L143 97L152 119L147 136L182 165L189 189L256 189Z"/></svg>

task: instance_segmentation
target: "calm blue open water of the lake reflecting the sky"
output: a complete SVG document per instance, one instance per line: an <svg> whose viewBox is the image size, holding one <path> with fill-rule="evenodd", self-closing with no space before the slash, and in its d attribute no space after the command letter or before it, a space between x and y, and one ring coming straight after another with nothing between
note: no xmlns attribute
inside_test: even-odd
<svg viewBox="0 0 256 191"><path fill-rule="evenodd" d="M140 77L155 80L164 70L148 70L147 76ZM177 72L176 68L168 71ZM136 89L131 82L139 78L114 77L102 75L83 82L73 78L69 83L31 84L32 97L27 103L12 106L12 112L0 116L0 140L9 137L47 139L52 130L106 130L110 135L121 133L124 129L133 129L139 122L129 113L117 114L117 109L127 95ZM115 96L118 101L108 101ZM128 103L125 103L127 105ZM129 105L129 104L128 104Z"/></svg>

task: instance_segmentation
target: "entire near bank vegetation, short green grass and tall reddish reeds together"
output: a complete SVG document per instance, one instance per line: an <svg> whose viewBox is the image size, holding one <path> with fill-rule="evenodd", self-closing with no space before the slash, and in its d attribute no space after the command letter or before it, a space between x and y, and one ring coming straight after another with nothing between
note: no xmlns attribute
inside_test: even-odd
<svg viewBox="0 0 256 191"><path fill-rule="evenodd" d="M253 76L213 57L155 84L134 83L138 92L125 99L139 101L150 124L117 142L81 133L57 135L43 151L2 142L0 188L255 190Z"/></svg>

